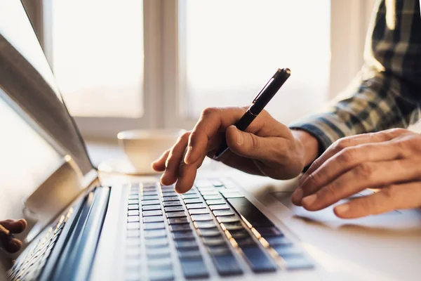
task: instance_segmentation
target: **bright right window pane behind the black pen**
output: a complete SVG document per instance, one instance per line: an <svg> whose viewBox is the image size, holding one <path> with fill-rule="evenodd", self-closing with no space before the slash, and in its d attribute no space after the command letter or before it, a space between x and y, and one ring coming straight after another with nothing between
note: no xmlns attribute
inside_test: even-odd
<svg viewBox="0 0 421 281"><path fill-rule="evenodd" d="M275 118L290 122L327 100L330 0L179 3L187 117L208 106L249 105L279 67L292 74L267 106Z"/></svg>

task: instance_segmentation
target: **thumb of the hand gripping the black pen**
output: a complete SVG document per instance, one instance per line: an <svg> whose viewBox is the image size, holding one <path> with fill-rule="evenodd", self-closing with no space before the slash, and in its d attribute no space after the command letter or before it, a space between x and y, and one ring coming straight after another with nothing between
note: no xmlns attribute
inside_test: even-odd
<svg viewBox="0 0 421 281"><path fill-rule="evenodd" d="M287 160L286 140L282 138L262 138L240 131L235 126L228 127L226 138L229 149L236 155L273 164L282 164Z"/></svg>

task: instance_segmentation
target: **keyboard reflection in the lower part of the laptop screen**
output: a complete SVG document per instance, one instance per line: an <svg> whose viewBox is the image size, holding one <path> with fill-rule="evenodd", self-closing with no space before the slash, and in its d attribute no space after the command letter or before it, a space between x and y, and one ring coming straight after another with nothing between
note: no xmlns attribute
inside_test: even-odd
<svg viewBox="0 0 421 281"><path fill-rule="evenodd" d="M67 219L72 215L70 208L65 216L61 216L54 226L48 228L44 235L40 235L37 241L32 242L31 249L25 254L25 259L18 259L8 271L10 280L36 280L41 274L48 257L53 251L55 243L65 227Z"/></svg>

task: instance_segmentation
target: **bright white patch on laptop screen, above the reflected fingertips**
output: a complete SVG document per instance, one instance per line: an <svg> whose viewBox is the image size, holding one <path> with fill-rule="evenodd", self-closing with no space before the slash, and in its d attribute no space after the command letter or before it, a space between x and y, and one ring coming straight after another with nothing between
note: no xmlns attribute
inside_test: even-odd
<svg viewBox="0 0 421 281"><path fill-rule="evenodd" d="M20 218L22 202L62 164L44 138L6 103L0 88L0 204L1 218ZM7 120L7 122L4 122Z"/></svg>

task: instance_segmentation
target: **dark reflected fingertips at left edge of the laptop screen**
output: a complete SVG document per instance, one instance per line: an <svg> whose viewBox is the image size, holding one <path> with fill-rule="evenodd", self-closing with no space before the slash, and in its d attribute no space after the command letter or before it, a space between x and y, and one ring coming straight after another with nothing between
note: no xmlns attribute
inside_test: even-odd
<svg viewBox="0 0 421 281"><path fill-rule="evenodd" d="M22 242L13 237L15 233L21 233L27 227L27 222L24 219L18 221L8 219L0 221L0 242L1 246L6 251L15 253L22 247Z"/></svg>

